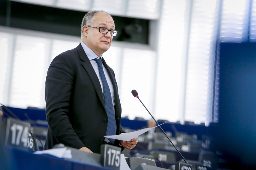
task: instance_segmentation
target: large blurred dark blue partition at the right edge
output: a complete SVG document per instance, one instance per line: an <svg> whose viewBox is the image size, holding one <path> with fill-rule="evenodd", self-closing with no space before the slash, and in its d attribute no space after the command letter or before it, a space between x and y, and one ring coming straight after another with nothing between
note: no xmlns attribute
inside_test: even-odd
<svg viewBox="0 0 256 170"><path fill-rule="evenodd" d="M218 148L236 167L256 167L256 43L220 44Z"/></svg>

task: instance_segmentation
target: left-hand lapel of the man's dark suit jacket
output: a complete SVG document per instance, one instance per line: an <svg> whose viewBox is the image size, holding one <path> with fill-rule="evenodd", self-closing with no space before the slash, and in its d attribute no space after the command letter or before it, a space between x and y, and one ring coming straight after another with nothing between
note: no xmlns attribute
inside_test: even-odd
<svg viewBox="0 0 256 170"><path fill-rule="evenodd" d="M91 65L90 60L88 59L87 55L85 54L83 47L81 45L81 43L76 47L81 60L83 60L84 62L82 62L83 67L85 68L87 74L89 75L91 82L95 88L95 91L100 99L100 102L102 103L103 107L105 108L105 104L104 104L104 98L103 98L103 94L102 94L102 89L99 83L99 79Z"/></svg>

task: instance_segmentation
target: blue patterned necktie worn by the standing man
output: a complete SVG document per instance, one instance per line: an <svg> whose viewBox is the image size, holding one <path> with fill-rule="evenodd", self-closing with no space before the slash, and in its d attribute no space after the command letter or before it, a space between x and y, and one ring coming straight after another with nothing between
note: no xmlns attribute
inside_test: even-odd
<svg viewBox="0 0 256 170"><path fill-rule="evenodd" d="M102 61L101 59L94 58L94 60L98 64L99 68L99 75L102 81L103 85L103 96L104 96L104 103L105 103L105 109L107 112L107 135L116 135L116 122L115 122L115 112L113 108L113 103L112 103L112 98L111 98L111 93L107 84L107 80L103 71L102 67ZM108 140L111 143L114 143L115 139L110 139Z"/></svg>

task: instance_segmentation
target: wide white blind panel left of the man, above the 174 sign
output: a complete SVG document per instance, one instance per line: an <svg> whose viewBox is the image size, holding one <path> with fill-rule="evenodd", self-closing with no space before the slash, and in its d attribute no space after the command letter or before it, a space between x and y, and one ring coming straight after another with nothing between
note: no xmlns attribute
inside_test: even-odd
<svg viewBox="0 0 256 170"><path fill-rule="evenodd" d="M21 36L16 39L10 105L43 107L41 91L45 80L44 60L47 39Z"/></svg>

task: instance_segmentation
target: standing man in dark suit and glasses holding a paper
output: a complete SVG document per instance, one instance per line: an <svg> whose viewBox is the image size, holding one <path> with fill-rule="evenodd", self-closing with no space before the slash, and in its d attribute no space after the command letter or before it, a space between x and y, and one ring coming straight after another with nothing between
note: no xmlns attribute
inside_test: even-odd
<svg viewBox="0 0 256 170"><path fill-rule="evenodd" d="M131 141L103 137L124 132L120 127L121 105L115 75L105 60L101 61L117 34L114 28L112 17L105 11L88 12L81 25L82 42L59 54L50 64L45 83L49 128L44 149L63 143L99 153L104 143L122 149L136 146L138 136Z"/></svg>

